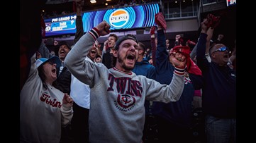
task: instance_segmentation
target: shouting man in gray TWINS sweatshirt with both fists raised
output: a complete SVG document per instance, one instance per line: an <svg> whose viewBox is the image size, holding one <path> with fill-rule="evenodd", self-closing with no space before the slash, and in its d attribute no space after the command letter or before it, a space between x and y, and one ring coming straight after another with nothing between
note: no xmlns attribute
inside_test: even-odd
<svg viewBox="0 0 256 143"><path fill-rule="evenodd" d="M169 85L161 85L133 70L138 58L138 40L133 35L118 38L113 51L113 68L86 58L99 36L108 35L110 25L103 21L83 35L65 58L72 75L91 88L89 142L140 143L145 121L145 99L177 101L184 88L186 57L172 54L174 75Z"/></svg>

